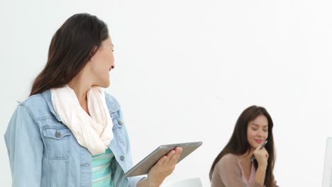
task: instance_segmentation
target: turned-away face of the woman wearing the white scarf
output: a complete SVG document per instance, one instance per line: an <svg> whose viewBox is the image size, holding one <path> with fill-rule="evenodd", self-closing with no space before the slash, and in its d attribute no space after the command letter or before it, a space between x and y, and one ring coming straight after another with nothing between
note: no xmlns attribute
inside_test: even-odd
<svg viewBox="0 0 332 187"><path fill-rule="evenodd" d="M114 68L113 47L111 38L104 40L90 60L95 86L109 87L109 72Z"/></svg>

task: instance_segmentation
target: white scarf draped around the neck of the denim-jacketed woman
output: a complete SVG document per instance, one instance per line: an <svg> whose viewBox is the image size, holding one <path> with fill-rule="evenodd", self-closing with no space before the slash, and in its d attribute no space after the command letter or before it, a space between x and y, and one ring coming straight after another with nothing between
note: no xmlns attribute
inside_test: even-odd
<svg viewBox="0 0 332 187"><path fill-rule="evenodd" d="M97 86L87 91L90 115L79 105L70 86L50 91L55 112L72 131L79 145L86 147L92 155L104 153L113 139L113 122L106 106L104 91Z"/></svg>

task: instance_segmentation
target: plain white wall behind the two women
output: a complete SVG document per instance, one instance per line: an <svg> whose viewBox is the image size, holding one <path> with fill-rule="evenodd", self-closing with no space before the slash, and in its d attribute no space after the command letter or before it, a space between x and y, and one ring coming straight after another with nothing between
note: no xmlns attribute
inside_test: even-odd
<svg viewBox="0 0 332 187"><path fill-rule="evenodd" d="M332 135L332 1L1 2L0 135L46 62L55 30L73 13L109 25L118 98L134 162L160 144L203 141L167 181L201 177L246 107L275 122L281 186L321 186ZM10 186L4 138L0 183Z"/></svg>

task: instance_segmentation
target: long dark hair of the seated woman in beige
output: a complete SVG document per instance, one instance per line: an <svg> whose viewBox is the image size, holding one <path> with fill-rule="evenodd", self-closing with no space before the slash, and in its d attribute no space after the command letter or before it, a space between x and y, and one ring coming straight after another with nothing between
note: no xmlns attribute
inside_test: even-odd
<svg viewBox="0 0 332 187"><path fill-rule="evenodd" d="M269 158L267 159L267 169L265 173L264 184L268 187L275 185L275 177L273 176L273 168L275 166L275 143L273 142L272 134L273 122L270 114L267 113L266 109L260 106L250 106L240 114L240 117L238 117L238 120L236 121L236 126L234 128L233 135L231 136L231 140L229 140L226 147L221 150L211 166L209 173L210 180L212 179L212 174L216 164L223 156L229 153L241 155L250 150L250 145L247 138L248 123L251 120L255 120L255 118L257 118L259 115L264 115L268 122L268 143L265 146L265 149L269 154ZM255 169L257 169L258 162L254 161L254 165Z"/></svg>

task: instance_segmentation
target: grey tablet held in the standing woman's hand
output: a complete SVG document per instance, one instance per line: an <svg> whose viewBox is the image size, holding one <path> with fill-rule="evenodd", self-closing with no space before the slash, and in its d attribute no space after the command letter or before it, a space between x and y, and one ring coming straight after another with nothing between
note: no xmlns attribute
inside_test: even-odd
<svg viewBox="0 0 332 187"><path fill-rule="evenodd" d="M140 176L148 174L148 171L151 167L153 167L158 160L167 155L168 152L175 149L176 147L182 147L182 152L180 154L177 163L179 163L182 159L187 157L190 153L192 153L195 149L201 146L203 142L188 142L181 144L173 144L173 145L161 145L157 147L153 152L151 152L147 157L145 157L142 161L138 162L132 169L127 171L125 177L129 176Z"/></svg>

